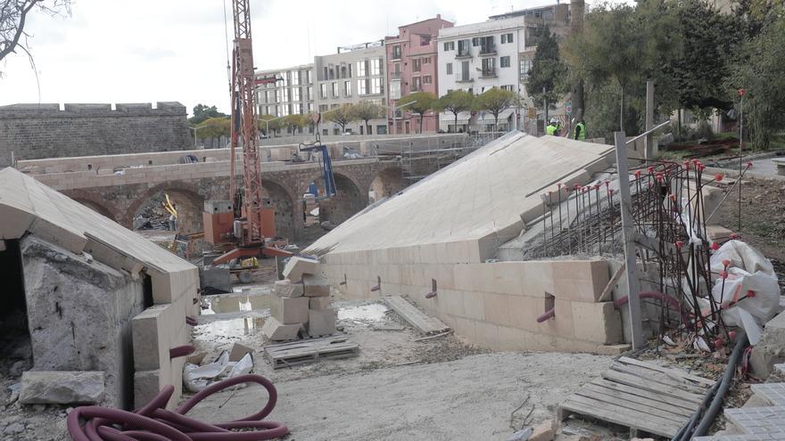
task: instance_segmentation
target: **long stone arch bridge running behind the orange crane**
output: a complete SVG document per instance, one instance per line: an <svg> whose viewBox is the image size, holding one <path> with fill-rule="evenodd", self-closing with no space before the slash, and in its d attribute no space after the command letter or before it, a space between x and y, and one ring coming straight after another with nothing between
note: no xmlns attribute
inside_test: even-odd
<svg viewBox="0 0 785 441"><path fill-rule="evenodd" d="M187 152L186 152L187 153ZM81 158L20 161L18 167L128 228L136 212L160 192L178 206L184 233L202 231L205 200L227 200L230 161L223 151L194 151L193 163L182 162L184 152L139 153ZM224 154L226 153L226 154ZM215 156L203 156L205 154ZM337 196L319 201L321 220L341 223L368 206L369 190L377 199L401 191L405 180L398 161L377 158L334 160ZM236 162L237 184L242 186L242 162ZM304 163L262 162L262 186L276 208L277 233L293 241L304 228L303 194L311 183L323 182L318 158Z"/></svg>

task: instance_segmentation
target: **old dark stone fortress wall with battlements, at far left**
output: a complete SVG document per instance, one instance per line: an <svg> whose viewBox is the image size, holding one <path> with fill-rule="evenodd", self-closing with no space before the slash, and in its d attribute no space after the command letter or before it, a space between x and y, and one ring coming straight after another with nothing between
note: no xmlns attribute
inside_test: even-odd
<svg viewBox="0 0 785 441"><path fill-rule="evenodd" d="M179 102L0 107L0 167L19 159L178 151L193 145Z"/></svg>

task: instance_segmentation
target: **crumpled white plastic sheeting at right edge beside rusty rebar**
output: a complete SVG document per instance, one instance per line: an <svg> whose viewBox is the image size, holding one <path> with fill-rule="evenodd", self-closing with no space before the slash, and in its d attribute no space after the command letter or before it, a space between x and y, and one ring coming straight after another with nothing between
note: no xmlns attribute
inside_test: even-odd
<svg viewBox="0 0 785 441"><path fill-rule="evenodd" d="M716 277L712 288L715 302L728 305L723 321L741 326L755 345L761 327L777 314L780 306L780 286L772 262L757 249L743 241L727 241L709 261L713 274L725 271L723 260L729 262L728 277ZM747 297L753 291L754 297Z"/></svg>

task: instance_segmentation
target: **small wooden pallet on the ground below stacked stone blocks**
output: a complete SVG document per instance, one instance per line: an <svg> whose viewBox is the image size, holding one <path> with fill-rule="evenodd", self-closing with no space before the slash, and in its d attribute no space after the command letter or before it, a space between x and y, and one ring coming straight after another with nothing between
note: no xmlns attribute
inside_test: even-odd
<svg viewBox="0 0 785 441"><path fill-rule="evenodd" d="M269 345L264 355L273 369L316 363L325 359L349 358L359 355L359 346L346 337L326 337Z"/></svg>

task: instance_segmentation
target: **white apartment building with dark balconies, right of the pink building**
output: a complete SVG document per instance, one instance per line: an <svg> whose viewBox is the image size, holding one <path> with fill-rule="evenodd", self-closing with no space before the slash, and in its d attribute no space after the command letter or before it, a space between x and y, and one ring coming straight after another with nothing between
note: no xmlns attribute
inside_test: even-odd
<svg viewBox="0 0 785 441"><path fill-rule="evenodd" d="M552 4L494 15L481 23L441 29L439 95L457 89L482 94L491 87L514 91L521 97L521 106L500 114L498 130L522 127L522 113L537 107L526 91L537 37L546 26L558 36L566 36L570 32L569 11L569 4ZM439 119L439 127L445 132L494 129L493 116L483 111L463 112L458 127L451 113L442 113Z"/></svg>

